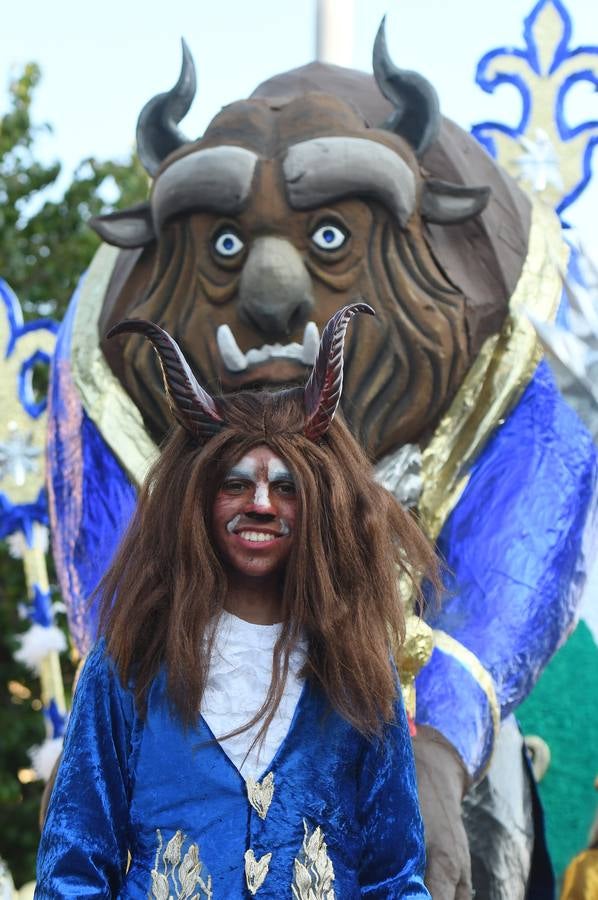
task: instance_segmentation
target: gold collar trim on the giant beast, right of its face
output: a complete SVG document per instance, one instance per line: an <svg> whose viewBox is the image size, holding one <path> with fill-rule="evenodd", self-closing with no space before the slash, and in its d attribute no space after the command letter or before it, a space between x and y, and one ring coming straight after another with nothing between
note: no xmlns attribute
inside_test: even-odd
<svg viewBox="0 0 598 900"><path fill-rule="evenodd" d="M544 204L533 203L528 253L503 328L484 343L422 454L418 508L432 540L458 503L469 467L519 400L542 358L527 313L541 321L554 319L568 256L558 218Z"/></svg>

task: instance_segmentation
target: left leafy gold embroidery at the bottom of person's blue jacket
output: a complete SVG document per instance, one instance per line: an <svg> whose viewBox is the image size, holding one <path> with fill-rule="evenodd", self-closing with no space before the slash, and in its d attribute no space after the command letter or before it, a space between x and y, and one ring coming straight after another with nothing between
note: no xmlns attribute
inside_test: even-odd
<svg viewBox="0 0 598 900"><path fill-rule="evenodd" d="M199 859L198 845L190 844L181 859L187 836L182 831L177 831L162 853L162 832L159 828L156 834L158 849L151 872L149 900L213 900L212 876L206 873Z"/></svg>

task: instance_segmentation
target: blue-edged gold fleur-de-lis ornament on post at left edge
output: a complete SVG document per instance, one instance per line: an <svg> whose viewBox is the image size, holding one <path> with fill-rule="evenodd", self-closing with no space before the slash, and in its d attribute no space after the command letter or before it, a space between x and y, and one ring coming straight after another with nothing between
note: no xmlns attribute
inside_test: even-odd
<svg viewBox="0 0 598 900"><path fill-rule="evenodd" d="M25 568L30 627L20 635L15 656L40 675L46 745L54 755L66 714L58 660L66 642L54 624L46 569L46 398L36 396L34 373L36 366L49 365L57 330L51 319L25 323L19 301L0 279L0 539L9 539Z"/></svg>

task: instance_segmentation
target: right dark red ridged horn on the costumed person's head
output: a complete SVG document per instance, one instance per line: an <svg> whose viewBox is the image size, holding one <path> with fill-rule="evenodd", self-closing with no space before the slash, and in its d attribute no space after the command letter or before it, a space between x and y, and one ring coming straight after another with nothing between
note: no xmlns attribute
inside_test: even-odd
<svg viewBox="0 0 598 900"><path fill-rule="evenodd" d="M343 349L347 326L355 313L376 313L367 303L351 303L336 312L323 333L320 349L305 385L306 422L303 433L312 441L321 438L332 422L343 390Z"/></svg>

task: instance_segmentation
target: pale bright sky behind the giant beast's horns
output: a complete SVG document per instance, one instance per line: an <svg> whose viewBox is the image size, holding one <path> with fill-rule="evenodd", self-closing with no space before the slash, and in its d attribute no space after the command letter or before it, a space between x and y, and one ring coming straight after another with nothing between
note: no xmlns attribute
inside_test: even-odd
<svg viewBox="0 0 598 900"><path fill-rule="evenodd" d="M572 44L598 44L597 0L568 0ZM201 134L226 103L262 80L311 61L316 0L28 0L2 4L0 108L11 74L30 60L43 71L34 115L53 132L40 140L46 159L69 171L86 156L118 157L133 145L137 116L155 93L172 86L184 36L198 69L198 92L183 123ZM522 45L532 0L346 0L353 23L352 64L371 68L371 48L388 14L391 53L421 71L440 95L443 112L465 128L484 119L515 123L516 91L495 95L474 81L488 50ZM351 12L352 10L352 12ZM577 89L577 107L598 119L598 96ZM598 168L597 161L594 168ZM598 258L598 179L570 218Z"/></svg>

